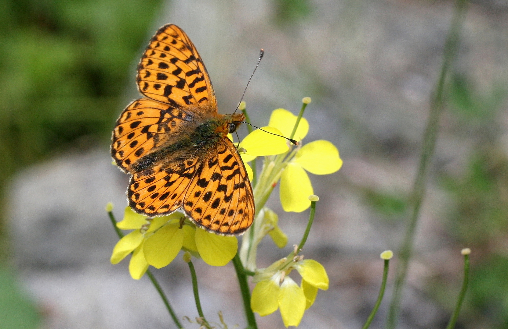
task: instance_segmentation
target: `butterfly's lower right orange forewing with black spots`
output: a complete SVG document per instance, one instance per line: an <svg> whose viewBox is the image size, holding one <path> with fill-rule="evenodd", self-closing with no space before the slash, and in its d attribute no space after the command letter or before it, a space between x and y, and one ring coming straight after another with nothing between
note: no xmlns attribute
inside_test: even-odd
<svg viewBox="0 0 508 329"><path fill-rule="evenodd" d="M252 223L252 189L233 143L221 139L202 161L186 192L184 210L196 224L224 234L239 234Z"/></svg>

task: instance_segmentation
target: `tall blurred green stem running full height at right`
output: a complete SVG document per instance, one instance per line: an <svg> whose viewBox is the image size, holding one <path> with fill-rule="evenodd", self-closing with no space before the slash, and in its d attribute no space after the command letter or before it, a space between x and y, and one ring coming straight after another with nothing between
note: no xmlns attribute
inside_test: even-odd
<svg viewBox="0 0 508 329"><path fill-rule="evenodd" d="M427 176L430 160L434 154L437 131L439 128L439 119L444 107L444 86L450 66L457 56L459 31L465 16L465 9L466 0L456 0L450 32L447 36L446 44L444 45L444 58L439 80L437 82L435 92L431 96L429 121L423 136L423 150L418 167L418 173L409 198L409 202L412 204L412 212L400 246L400 259L397 264L393 297L388 311L387 329L394 329L396 325L402 295L402 287L404 286L409 261L412 255L412 247L418 224L420 207L425 194L425 178Z"/></svg>

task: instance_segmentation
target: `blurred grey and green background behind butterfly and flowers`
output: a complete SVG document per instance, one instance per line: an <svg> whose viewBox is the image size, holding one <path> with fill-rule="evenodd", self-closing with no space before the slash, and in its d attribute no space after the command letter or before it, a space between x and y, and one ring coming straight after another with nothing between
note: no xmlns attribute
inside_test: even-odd
<svg viewBox="0 0 508 329"><path fill-rule="evenodd" d="M0 2L0 328L172 327L148 279L131 279L126 261L109 264L117 237L104 211L112 201L119 220L126 205L110 134L138 97L136 65L165 23L195 43L219 112L235 108L260 48L245 96L254 124L278 107L296 114L312 97L304 142L331 140L344 165L311 177L321 199L304 254L325 265L330 289L300 327L361 327L377 297L379 253L398 249L408 218L452 12L451 1L423 0ZM508 326L508 2L473 1L461 36L400 328L446 325L463 247L472 268L458 327ZM284 213L277 191L269 206L297 243L308 213ZM290 248L267 239L260 267ZM242 327L232 265L196 267L208 319L220 309ZM195 317L183 261L155 274L178 315ZM372 328L384 327L390 294ZM258 323L283 326L278 312Z"/></svg>

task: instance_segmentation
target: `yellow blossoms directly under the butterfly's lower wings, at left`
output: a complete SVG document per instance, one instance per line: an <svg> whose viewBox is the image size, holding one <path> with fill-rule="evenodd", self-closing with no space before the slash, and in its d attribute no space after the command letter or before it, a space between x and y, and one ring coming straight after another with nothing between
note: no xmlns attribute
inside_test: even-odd
<svg viewBox="0 0 508 329"><path fill-rule="evenodd" d="M116 226L134 231L116 243L111 263L117 264L133 252L129 272L133 279L140 279L148 265L156 268L167 266L181 249L201 257L212 266L224 266L233 259L238 247L236 237L209 233L186 221L180 228L182 217L182 213L175 212L168 216L146 218L126 207L123 220Z"/></svg>

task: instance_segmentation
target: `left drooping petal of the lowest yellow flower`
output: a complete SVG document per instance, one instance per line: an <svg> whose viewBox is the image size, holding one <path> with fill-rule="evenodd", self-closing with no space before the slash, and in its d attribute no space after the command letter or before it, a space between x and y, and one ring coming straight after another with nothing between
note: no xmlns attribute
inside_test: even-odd
<svg viewBox="0 0 508 329"><path fill-rule="evenodd" d="M275 274L272 278L256 284L250 297L250 308L253 312L265 316L279 308L279 280L280 274Z"/></svg>

